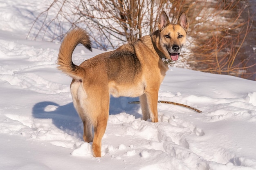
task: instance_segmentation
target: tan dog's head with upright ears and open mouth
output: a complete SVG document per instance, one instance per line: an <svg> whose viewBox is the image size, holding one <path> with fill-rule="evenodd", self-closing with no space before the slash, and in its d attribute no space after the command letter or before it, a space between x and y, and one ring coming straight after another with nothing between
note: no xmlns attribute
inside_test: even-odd
<svg viewBox="0 0 256 170"><path fill-rule="evenodd" d="M159 16L160 31L159 46L167 59L176 61L182 46L186 41L186 33L189 29L189 21L186 13L181 13L177 24L170 24L168 16L164 11Z"/></svg>

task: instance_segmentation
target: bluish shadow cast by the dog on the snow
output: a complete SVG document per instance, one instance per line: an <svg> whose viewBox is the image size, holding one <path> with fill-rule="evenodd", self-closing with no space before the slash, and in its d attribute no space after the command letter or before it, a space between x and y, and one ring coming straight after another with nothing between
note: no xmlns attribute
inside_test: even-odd
<svg viewBox="0 0 256 170"><path fill-rule="evenodd" d="M141 114L138 113L140 105L128 104L132 101L139 101L139 98L111 97L109 114L117 115L119 113L128 113L134 115L136 119L141 117ZM33 117L37 119L52 119L52 123L57 128L64 130L70 135L76 133L82 137L83 123L76 113L73 103L60 106L59 104L49 101L39 102L34 105L32 114Z"/></svg>

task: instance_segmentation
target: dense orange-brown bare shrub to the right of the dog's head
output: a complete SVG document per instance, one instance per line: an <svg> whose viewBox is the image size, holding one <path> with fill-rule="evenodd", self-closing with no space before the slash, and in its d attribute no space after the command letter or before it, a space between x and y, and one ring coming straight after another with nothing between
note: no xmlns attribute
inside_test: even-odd
<svg viewBox="0 0 256 170"><path fill-rule="evenodd" d="M247 4L239 0L221 2L201 3L203 8L190 9L196 11L197 17L190 23L194 43L191 48L193 61L188 61L189 65L194 70L253 78L255 70L248 72L247 69L256 66L249 62L255 56L245 56L241 52L252 26ZM247 19L243 19L241 15L246 13Z"/></svg>

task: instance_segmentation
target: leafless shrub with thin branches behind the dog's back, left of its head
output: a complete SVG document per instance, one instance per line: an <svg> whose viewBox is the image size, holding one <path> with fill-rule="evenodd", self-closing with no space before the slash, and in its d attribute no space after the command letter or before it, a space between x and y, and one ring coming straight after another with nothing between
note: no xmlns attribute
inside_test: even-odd
<svg viewBox="0 0 256 170"><path fill-rule="evenodd" d="M171 20L176 20L177 15L173 14L180 13L180 8L173 4L181 3L176 0L54 0L39 13L28 36L61 40L67 31L80 27L90 33L95 48L115 49L155 31L159 9L165 9Z"/></svg>

